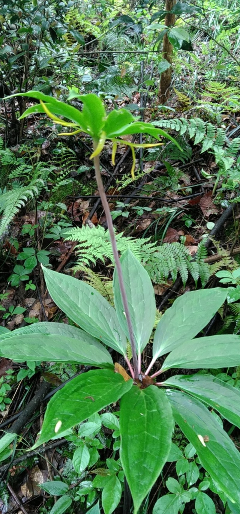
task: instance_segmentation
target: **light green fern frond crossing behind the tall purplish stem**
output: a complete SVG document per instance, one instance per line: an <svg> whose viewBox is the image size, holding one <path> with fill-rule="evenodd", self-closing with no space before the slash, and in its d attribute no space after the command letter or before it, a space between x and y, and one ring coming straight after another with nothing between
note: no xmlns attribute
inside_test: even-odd
<svg viewBox="0 0 240 514"><path fill-rule="evenodd" d="M65 239L78 242L76 246L78 264L73 268L75 271L82 270L83 265L86 264L96 265L97 260L105 264L107 259L114 265L109 233L103 227L72 228L65 232ZM197 260L194 261L188 249L181 243L165 243L162 246L156 246L156 243L149 242L149 238L135 240L132 237L123 236L122 233L116 234L116 240L120 254L126 248L130 248L149 273L151 280L156 283L165 282L169 276L175 282L178 273L184 285L189 274L195 284L200 278L202 286L210 278L210 266L204 263L205 253L202 257L200 250Z"/></svg>

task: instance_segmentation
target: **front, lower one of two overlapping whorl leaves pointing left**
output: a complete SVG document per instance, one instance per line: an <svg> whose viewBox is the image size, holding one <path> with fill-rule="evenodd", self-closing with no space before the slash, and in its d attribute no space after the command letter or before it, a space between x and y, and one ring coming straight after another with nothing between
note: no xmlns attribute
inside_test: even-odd
<svg viewBox="0 0 240 514"><path fill-rule="evenodd" d="M53 334L35 334L34 338L32 334L11 334L12 337L5 340L2 336L0 354L14 361L78 362L100 367L106 364L108 368L109 364L113 365L110 354L106 355L101 348L89 344L84 336L78 340Z"/></svg>

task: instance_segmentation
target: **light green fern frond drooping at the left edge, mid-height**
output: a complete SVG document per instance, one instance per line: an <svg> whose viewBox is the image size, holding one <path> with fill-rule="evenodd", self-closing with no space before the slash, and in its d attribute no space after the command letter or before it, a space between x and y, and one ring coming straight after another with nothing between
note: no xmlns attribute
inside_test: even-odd
<svg viewBox="0 0 240 514"><path fill-rule="evenodd" d="M29 198L33 198L34 195L38 196L43 186L43 180L38 179L30 182L28 186L11 189L0 196L0 214L3 213L0 222L0 237L7 231L15 214L26 205Z"/></svg>

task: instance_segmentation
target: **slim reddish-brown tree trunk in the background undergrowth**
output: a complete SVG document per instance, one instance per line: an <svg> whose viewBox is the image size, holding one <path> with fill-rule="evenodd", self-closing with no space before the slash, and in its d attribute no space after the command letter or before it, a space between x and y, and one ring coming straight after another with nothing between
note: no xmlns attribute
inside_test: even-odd
<svg viewBox="0 0 240 514"><path fill-rule="evenodd" d="M165 11L171 11L172 8L176 5L176 0L166 0L165 1ZM165 25L170 27L175 23L175 14L167 13L165 15ZM173 61L173 45L170 43L168 39L168 34L164 34L163 42L162 42L162 57L166 59L170 64ZM172 80L172 66L162 72L160 77L160 85L158 91L158 99L161 104L164 104L169 97L170 93L170 85Z"/></svg>

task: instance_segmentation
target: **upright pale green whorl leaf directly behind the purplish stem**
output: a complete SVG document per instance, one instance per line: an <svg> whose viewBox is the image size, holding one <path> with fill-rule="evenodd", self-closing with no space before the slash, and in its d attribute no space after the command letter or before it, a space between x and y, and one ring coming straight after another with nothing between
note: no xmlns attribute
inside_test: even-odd
<svg viewBox="0 0 240 514"><path fill-rule="evenodd" d="M123 253L120 262L136 349L137 353L140 354L149 342L154 325L156 315L154 289L149 274L131 250L128 249ZM130 340L116 268L114 270L113 291L119 323L127 339Z"/></svg>

